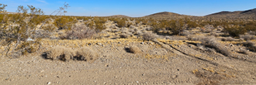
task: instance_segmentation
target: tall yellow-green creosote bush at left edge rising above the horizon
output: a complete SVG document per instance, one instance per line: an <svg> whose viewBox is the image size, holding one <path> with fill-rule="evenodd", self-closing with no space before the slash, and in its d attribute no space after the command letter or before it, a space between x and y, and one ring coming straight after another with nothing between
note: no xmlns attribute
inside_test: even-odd
<svg viewBox="0 0 256 85"><path fill-rule="evenodd" d="M5 46L5 55L11 56L10 58L19 57L13 56L13 53L32 53L34 49L39 48L36 47L37 45L33 45L39 43L40 39L29 40L29 38L35 34L36 26L43 22L43 11L40 8L33 7L33 5L27 5L27 7L20 5L17 14L1 14L5 15L1 22L5 26L0 29L0 39L4 41L1 44Z"/></svg>

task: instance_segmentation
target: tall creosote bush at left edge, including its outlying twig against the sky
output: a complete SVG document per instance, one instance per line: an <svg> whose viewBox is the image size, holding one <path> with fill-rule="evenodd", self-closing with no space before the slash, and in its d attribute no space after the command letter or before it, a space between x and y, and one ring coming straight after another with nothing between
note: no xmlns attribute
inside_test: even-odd
<svg viewBox="0 0 256 85"><path fill-rule="evenodd" d="M1 6L2 4L0 4ZM33 53L40 49L40 40L42 37L37 37L38 30L47 30L52 32L52 29L43 27L53 17L51 15L44 15L40 8L33 5L27 7L19 5L16 14L5 13L5 6L0 7L0 39L1 45L5 46L5 56L9 58L16 58L26 53ZM67 7L67 4L64 4ZM64 11L61 7L56 12ZM21 55L16 55L16 54Z"/></svg>

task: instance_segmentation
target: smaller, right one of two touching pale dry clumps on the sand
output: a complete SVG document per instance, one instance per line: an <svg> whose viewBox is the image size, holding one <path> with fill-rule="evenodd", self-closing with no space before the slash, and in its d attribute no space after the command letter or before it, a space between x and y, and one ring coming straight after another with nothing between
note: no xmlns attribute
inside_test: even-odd
<svg viewBox="0 0 256 85"><path fill-rule="evenodd" d="M94 61L97 59L99 54L95 52L94 49L88 47L82 47L81 49L76 50L75 58L78 60L85 60L85 61Z"/></svg>

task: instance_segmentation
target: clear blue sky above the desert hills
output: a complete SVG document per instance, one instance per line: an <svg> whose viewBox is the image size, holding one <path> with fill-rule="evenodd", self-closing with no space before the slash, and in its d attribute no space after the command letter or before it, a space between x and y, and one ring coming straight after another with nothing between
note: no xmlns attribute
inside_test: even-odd
<svg viewBox="0 0 256 85"><path fill-rule="evenodd" d="M208 15L221 11L243 11L256 8L256 0L0 0L8 12L19 5L33 5L50 14L67 2L66 15L140 17L156 12L175 12L183 15Z"/></svg>

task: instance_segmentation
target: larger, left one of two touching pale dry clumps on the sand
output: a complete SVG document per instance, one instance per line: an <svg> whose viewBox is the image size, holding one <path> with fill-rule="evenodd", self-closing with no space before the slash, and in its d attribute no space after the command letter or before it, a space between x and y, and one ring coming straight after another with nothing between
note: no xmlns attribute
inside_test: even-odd
<svg viewBox="0 0 256 85"><path fill-rule="evenodd" d="M75 52L71 48L66 48L64 46L55 46L51 49L49 49L46 52L46 59L61 59L64 61L73 59L73 56L75 56Z"/></svg>

